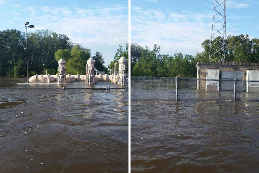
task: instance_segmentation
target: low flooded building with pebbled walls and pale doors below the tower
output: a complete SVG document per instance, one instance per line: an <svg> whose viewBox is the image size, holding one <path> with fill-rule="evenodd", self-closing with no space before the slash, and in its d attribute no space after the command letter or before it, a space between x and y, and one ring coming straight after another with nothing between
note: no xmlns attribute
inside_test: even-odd
<svg viewBox="0 0 259 173"><path fill-rule="evenodd" d="M207 79L207 81L197 80L197 90L233 90L233 80L239 79L244 81L237 82L237 91L259 92L259 83L249 82L259 81L259 63L200 62L197 63L197 79Z"/></svg>

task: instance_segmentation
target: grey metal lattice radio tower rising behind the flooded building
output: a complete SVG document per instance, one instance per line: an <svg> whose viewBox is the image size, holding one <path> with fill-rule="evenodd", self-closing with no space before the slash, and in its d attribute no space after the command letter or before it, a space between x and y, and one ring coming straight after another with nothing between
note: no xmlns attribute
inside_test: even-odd
<svg viewBox="0 0 259 173"><path fill-rule="evenodd" d="M220 36L221 39L218 39L218 36ZM216 42L212 43L212 39ZM220 46L216 47L218 44ZM226 0L215 0L214 2L209 62L216 62L213 59L215 54L222 56L219 61L226 60Z"/></svg>

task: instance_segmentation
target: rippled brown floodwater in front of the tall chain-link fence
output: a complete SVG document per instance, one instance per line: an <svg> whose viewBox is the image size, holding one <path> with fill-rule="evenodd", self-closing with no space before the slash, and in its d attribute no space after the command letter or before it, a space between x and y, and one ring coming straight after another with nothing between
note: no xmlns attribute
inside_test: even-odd
<svg viewBox="0 0 259 173"><path fill-rule="evenodd" d="M132 172L258 172L258 101L132 101Z"/></svg>

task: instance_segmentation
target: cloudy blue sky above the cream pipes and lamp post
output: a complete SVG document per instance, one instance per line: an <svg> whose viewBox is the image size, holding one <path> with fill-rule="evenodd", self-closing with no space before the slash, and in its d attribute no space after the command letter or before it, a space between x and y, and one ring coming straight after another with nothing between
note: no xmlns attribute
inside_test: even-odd
<svg viewBox="0 0 259 173"><path fill-rule="evenodd" d="M128 42L128 0L0 0L0 30L37 29L67 35L72 42L103 53L105 65Z"/></svg>

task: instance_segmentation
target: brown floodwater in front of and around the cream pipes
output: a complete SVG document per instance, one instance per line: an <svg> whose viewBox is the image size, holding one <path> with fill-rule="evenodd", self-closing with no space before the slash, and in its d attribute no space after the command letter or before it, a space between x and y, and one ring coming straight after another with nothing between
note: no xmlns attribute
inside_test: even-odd
<svg viewBox="0 0 259 173"><path fill-rule="evenodd" d="M0 78L0 172L128 170L127 91L13 89L57 87L24 81Z"/></svg>

